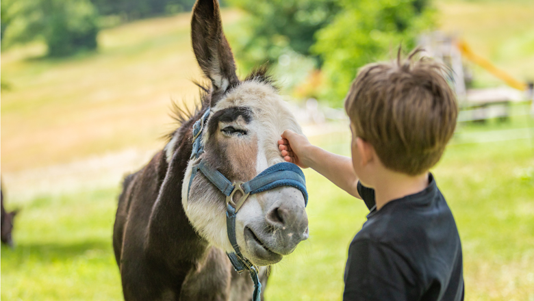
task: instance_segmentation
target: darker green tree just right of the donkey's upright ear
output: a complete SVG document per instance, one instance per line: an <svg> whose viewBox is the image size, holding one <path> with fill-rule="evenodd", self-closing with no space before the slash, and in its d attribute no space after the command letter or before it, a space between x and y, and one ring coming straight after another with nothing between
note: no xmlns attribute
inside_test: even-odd
<svg viewBox="0 0 534 301"><path fill-rule="evenodd" d="M266 61L275 63L283 54L309 52L314 34L338 12L336 0L228 0L249 13L243 31L232 47L246 68ZM316 57L317 58L317 57Z"/></svg>

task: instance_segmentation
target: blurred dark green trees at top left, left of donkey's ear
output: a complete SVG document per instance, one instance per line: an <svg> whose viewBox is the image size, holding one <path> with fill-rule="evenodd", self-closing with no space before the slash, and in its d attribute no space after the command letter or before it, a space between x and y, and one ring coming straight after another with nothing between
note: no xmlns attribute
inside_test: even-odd
<svg viewBox="0 0 534 301"><path fill-rule="evenodd" d="M72 55L97 48L99 27L175 14L193 4L194 0L1 0L2 47L41 39L50 56Z"/></svg>

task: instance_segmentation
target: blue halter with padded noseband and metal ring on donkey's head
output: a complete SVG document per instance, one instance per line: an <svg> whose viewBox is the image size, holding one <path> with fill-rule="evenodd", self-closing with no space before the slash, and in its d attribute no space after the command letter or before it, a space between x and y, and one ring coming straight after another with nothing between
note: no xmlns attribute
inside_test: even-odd
<svg viewBox="0 0 534 301"><path fill-rule="evenodd" d="M209 116L209 108L203 114L203 116L194 123L193 126L193 150L190 159L197 159L204 151L204 145L202 142L203 129L207 118ZM231 182L226 176L221 174L218 170L207 165L202 159L199 163L193 166L191 171L191 177L189 180L188 196L191 189L191 183L196 176L197 172L201 172L220 192L226 196L226 226L228 239L232 244L233 250L236 252L227 253L233 268L241 274L248 270L251 274L252 281L254 283L253 301L260 301L260 295L262 293L262 283L259 283L259 276L256 267L246 259L238 246L236 239L236 214L241 208L246 198L251 194L257 194L259 192L265 192L269 189L274 189L281 186L295 187L300 190L304 196L305 205L308 202L308 194L306 191L306 180L304 174L298 166L293 163L281 162L273 166L270 166L260 174L254 177L251 181ZM241 196L237 202L233 200L233 195L236 192L241 192Z"/></svg>

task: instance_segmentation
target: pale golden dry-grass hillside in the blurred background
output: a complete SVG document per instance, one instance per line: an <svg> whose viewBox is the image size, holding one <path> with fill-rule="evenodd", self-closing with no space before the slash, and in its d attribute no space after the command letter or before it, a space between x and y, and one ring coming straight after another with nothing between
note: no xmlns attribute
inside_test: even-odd
<svg viewBox="0 0 534 301"><path fill-rule="evenodd" d="M518 79L534 79L533 1L437 2L440 27ZM239 18L225 11L225 29ZM170 129L171 99L192 104L200 79L189 15L105 29L98 53L42 58L42 44L1 53L2 171L65 163L123 148L151 150ZM479 86L502 84L476 68Z"/></svg>

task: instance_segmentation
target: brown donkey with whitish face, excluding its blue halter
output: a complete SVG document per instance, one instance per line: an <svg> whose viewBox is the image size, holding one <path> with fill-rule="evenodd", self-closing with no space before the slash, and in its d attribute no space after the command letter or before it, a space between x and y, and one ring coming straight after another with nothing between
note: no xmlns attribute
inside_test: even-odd
<svg viewBox="0 0 534 301"><path fill-rule="evenodd" d="M202 161L242 188L283 164L277 140L284 129L302 131L264 68L238 79L217 0L195 3L191 38L211 87L196 112L178 110L180 125L168 144L124 180L113 247L125 300L251 300L253 281L225 252L240 253L251 271L261 267L265 286L267 267L308 237L307 194L298 185L225 196L205 172L195 172ZM228 197L231 204L240 198L233 235Z"/></svg>

